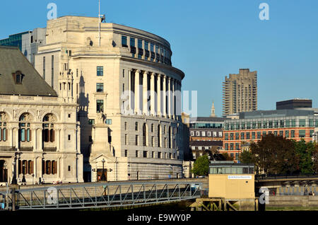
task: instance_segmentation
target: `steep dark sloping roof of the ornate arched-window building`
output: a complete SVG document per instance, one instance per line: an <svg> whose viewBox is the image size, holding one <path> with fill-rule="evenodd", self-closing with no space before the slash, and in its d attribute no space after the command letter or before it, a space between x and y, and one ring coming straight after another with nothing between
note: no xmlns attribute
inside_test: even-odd
<svg viewBox="0 0 318 225"><path fill-rule="evenodd" d="M23 74L16 84L13 73ZM57 92L37 73L18 47L0 46L0 95L57 96Z"/></svg>

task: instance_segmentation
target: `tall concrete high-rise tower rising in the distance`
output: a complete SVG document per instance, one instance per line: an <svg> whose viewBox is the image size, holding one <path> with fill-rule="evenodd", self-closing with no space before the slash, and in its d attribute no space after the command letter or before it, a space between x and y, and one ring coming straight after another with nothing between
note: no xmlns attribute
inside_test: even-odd
<svg viewBox="0 0 318 225"><path fill-rule="evenodd" d="M240 69L239 74L225 76L223 116L254 110L257 110L257 71Z"/></svg>

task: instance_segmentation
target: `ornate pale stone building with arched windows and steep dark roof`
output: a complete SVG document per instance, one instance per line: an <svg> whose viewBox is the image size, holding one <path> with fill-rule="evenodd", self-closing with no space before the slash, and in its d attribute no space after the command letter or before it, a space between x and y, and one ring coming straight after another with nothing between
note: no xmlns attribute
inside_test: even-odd
<svg viewBox="0 0 318 225"><path fill-rule="evenodd" d="M29 185L83 182L76 109L76 102L58 97L17 47L0 47L1 185L14 178Z"/></svg>

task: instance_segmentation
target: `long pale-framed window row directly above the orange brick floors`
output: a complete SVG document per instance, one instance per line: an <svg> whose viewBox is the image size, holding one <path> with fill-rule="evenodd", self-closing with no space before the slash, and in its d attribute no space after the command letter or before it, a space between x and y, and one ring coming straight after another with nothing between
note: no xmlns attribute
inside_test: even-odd
<svg viewBox="0 0 318 225"><path fill-rule="evenodd" d="M272 120L258 122L225 123L225 130L233 129L267 129L286 127L318 127L318 120L298 119L298 120Z"/></svg>

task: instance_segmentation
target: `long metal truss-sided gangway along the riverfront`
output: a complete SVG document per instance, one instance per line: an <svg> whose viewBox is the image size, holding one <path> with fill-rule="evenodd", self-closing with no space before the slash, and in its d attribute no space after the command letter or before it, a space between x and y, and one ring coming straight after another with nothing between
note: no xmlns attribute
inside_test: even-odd
<svg viewBox="0 0 318 225"><path fill-rule="evenodd" d="M128 207L196 199L197 184L189 182L88 183L16 190L16 209L83 209ZM200 184L201 185L201 184ZM4 196L5 192L0 192Z"/></svg>

